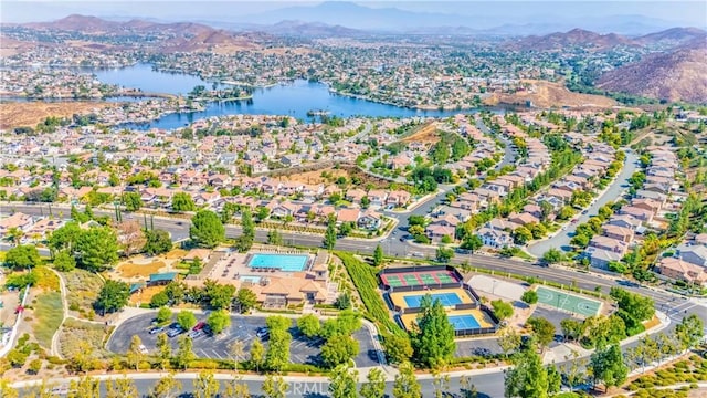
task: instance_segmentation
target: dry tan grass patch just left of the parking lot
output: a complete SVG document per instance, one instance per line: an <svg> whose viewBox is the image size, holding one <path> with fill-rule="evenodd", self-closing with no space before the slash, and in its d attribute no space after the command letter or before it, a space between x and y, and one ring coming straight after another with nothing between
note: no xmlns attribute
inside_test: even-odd
<svg viewBox="0 0 707 398"><path fill-rule="evenodd" d="M59 335L62 355L66 358L72 358L77 353L87 354L88 350L92 350L92 356L96 358L108 357L110 353L104 348L104 343L108 338L112 328L102 324L67 318Z"/></svg>

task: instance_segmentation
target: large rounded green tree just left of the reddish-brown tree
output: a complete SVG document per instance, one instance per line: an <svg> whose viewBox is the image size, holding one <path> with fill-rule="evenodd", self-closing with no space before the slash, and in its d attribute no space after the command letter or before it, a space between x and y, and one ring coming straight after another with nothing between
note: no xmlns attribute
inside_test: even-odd
<svg viewBox="0 0 707 398"><path fill-rule="evenodd" d="M76 242L81 265L92 272L103 272L118 261L118 239L108 227L93 227Z"/></svg>

